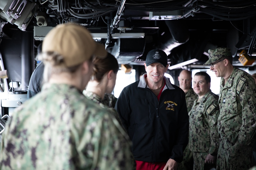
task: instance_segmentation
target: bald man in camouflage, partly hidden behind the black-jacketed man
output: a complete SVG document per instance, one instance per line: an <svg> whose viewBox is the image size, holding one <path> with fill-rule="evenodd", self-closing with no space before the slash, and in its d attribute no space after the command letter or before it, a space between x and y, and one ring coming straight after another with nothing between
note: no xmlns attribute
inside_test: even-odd
<svg viewBox="0 0 256 170"><path fill-rule="evenodd" d="M182 70L178 76L179 87L185 92L186 104L188 112L191 110L194 101L197 98L193 88L191 88L191 72ZM189 143L183 152L183 161L178 164L178 170L191 170L193 169L193 154L189 149Z"/></svg>

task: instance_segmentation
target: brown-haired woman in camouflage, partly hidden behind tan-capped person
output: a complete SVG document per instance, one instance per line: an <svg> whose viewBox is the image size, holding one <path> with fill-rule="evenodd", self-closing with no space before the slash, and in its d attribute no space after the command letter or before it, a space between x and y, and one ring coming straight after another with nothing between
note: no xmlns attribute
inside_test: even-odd
<svg viewBox="0 0 256 170"><path fill-rule="evenodd" d="M96 102L99 106L108 109L120 121L119 114L110 107L110 99L105 99L107 94L111 93L115 87L116 75L119 70L118 61L108 53L104 59L95 57L93 59L93 72L91 80L88 82L83 94L90 100Z"/></svg>

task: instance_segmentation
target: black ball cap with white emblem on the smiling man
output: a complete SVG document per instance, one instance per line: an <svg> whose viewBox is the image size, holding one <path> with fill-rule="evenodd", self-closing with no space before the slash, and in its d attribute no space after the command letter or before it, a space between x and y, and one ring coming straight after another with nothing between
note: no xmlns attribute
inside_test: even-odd
<svg viewBox="0 0 256 170"><path fill-rule="evenodd" d="M147 58L146 58L146 66L149 66L152 63L160 63L164 67L166 67L167 63L167 55L163 50L160 49L154 49L150 50L147 53Z"/></svg>

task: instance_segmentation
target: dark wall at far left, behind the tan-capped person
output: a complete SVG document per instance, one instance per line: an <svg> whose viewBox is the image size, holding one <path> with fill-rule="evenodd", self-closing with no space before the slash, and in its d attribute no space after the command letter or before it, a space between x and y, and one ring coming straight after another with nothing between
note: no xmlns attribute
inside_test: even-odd
<svg viewBox="0 0 256 170"><path fill-rule="evenodd" d="M34 69L33 32L9 28L1 39L0 52L4 69L9 73L8 84L13 80L20 84L15 90L27 90Z"/></svg>

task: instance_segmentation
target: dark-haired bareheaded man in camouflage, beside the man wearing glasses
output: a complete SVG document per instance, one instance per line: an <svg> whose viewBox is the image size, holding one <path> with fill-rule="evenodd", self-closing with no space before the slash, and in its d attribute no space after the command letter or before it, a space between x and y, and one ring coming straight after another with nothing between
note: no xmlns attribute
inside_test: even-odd
<svg viewBox="0 0 256 170"><path fill-rule="evenodd" d="M197 72L193 90L198 95L189 114L189 148L193 152L194 170L216 168L219 147L217 120L219 96L210 90L211 77L206 72Z"/></svg>

